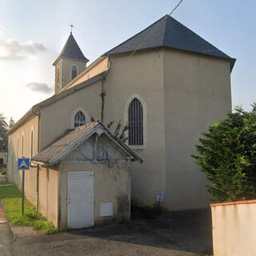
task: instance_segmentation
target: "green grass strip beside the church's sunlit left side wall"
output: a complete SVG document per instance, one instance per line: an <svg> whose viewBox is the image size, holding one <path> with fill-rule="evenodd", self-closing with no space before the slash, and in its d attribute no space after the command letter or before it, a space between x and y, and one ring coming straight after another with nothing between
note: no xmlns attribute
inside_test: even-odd
<svg viewBox="0 0 256 256"><path fill-rule="evenodd" d="M5 206L6 218L12 225L32 226L33 230L42 230L45 234L57 232L54 225L26 199L24 215L22 215L22 193L16 186L0 186L0 199Z"/></svg>

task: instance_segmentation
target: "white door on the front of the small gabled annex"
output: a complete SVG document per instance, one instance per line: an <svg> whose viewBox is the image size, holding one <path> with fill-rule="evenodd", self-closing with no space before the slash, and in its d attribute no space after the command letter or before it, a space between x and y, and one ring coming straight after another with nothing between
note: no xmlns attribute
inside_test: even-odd
<svg viewBox="0 0 256 256"><path fill-rule="evenodd" d="M90 171L67 174L67 228L94 226L94 175Z"/></svg>

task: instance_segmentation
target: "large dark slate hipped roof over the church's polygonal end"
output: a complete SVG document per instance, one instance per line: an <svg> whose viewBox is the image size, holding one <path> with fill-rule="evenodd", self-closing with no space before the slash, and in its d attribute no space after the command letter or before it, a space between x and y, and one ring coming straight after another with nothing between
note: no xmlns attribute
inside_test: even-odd
<svg viewBox="0 0 256 256"><path fill-rule="evenodd" d="M146 38L148 39L146 40ZM145 40L146 42L144 42ZM144 43L142 44L142 42ZM169 15L160 18L145 30L135 34L132 38L122 42L104 55L132 52L141 44L140 50L166 47L198 54L206 54L218 58L227 58L230 60L231 69L235 62L234 58L230 58L230 56L218 50L215 46L211 45L210 42L207 42Z"/></svg>

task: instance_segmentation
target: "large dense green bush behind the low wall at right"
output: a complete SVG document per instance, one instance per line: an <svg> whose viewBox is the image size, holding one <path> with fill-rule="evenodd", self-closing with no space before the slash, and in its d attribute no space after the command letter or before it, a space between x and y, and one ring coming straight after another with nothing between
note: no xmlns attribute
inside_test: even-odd
<svg viewBox="0 0 256 256"><path fill-rule="evenodd" d="M210 126L199 138L201 167L214 201L231 202L256 198L256 105L247 112L237 107L226 119Z"/></svg>

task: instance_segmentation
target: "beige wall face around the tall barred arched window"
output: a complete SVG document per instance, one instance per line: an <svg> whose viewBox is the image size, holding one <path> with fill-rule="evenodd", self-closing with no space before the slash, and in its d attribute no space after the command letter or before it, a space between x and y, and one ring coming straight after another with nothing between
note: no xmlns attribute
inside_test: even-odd
<svg viewBox="0 0 256 256"><path fill-rule="evenodd" d="M104 85L105 122L124 122L126 102L132 95L138 94L145 102L147 145L144 150L134 150L144 162L131 163L131 184L132 196L153 205L166 186L163 51L143 51L126 58L126 54L110 58Z"/></svg>

